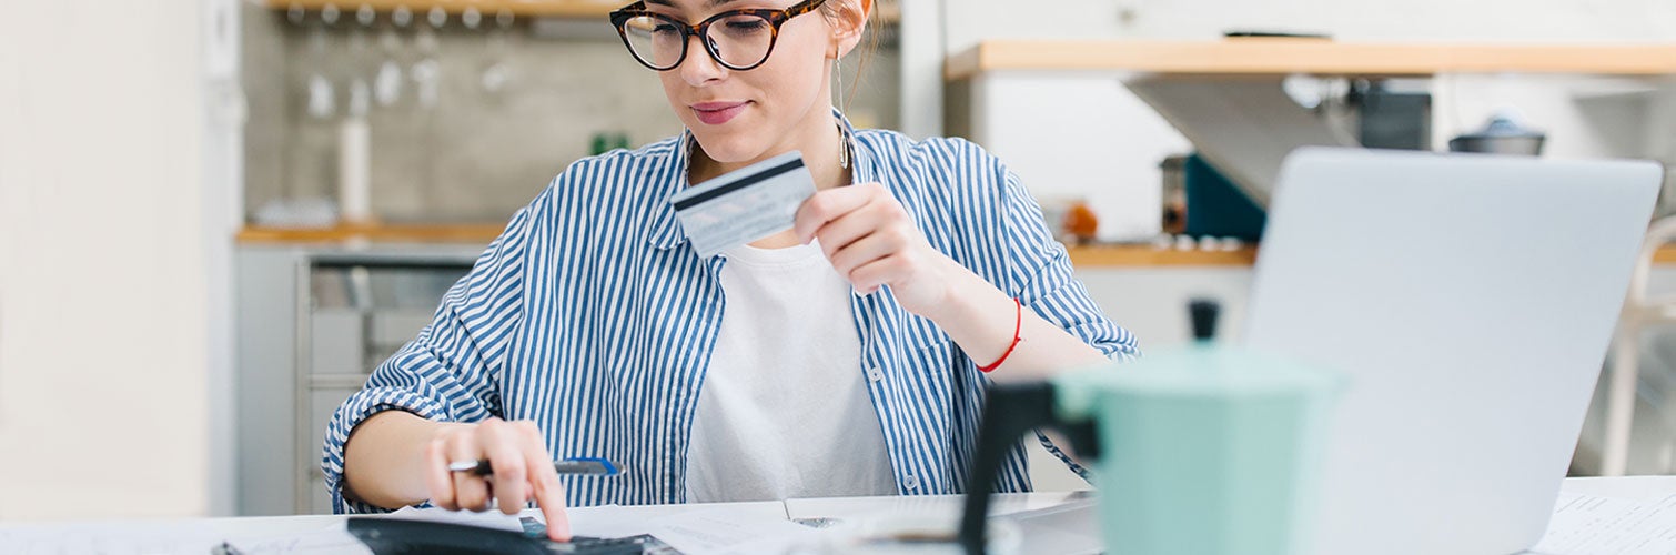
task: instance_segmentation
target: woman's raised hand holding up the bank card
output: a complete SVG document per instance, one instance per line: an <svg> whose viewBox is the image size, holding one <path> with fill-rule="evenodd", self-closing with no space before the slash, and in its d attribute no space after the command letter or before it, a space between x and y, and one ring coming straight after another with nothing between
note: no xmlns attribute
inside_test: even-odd
<svg viewBox="0 0 1676 555"><path fill-rule="evenodd" d="M913 218L878 183L815 193L798 208L793 231L820 240L838 275L863 295L890 285L908 312L927 315L949 297L957 265L925 241Z"/></svg>

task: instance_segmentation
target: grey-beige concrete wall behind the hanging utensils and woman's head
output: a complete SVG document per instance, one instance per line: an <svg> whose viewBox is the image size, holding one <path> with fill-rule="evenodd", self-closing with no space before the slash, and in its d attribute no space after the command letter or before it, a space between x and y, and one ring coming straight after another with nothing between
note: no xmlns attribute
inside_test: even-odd
<svg viewBox="0 0 1676 555"><path fill-rule="evenodd" d="M246 213L275 200L334 200L347 82L369 79L387 59L412 67L422 57L419 35L399 32L401 47L384 50L379 40L391 29L389 17L380 15L365 32L344 15L318 34L317 45L318 13L298 27L283 12L246 5L243 18ZM657 74L628 57L607 22L521 20L506 37L506 47L496 49L484 30L451 18L436 34L436 106L417 106L409 79L397 104L372 109L374 215L387 221L503 221L566 164L587 156L593 134L627 132L639 146L680 132ZM357 40L364 49L357 50ZM868 62L848 112L856 126L895 126L895 57L885 40ZM481 77L494 62L504 62L515 77L499 94L488 94ZM855 84L858 67L858 57L846 60L845 89ZM307 112L313 74L334 82L339 111L325 119Z"/></svg>

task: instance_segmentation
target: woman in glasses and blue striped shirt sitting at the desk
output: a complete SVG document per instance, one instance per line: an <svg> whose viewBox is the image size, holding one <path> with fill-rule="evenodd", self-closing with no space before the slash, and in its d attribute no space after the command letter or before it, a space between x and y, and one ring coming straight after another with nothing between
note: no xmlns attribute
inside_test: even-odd
<svg viewBox="0 0 1676 555"><path fill-rule="evenodd" d="M582 159L513 216L334 416L339 511L535 501L563 540L566 501L959 493L984 372L1136 352L999 161L833 111L872 2L789 3L612 15L687 132ZM699 258L669 196L788 151L818 189L796 226ZM555 475L578 456L622 475ZM447 469L473 459L493 475ZM1002 486L1029 488L1022 448Z"/></svg>

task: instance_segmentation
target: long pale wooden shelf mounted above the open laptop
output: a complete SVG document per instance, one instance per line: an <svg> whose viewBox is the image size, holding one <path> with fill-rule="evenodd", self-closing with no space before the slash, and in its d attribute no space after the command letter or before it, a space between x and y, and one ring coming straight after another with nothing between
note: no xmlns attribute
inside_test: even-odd
<svg viewBox="0 0 1676 555"><path fill-rule="evenodd" d="M1182 75L1676 74L1676 44L1361 44L1327 39L985 40L950 55L949 80L992 70Z"/></svg>

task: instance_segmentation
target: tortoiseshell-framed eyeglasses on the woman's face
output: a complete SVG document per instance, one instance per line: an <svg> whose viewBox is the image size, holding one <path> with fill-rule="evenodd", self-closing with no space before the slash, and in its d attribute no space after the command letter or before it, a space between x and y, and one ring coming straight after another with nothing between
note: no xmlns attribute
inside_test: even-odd
<svg viewBox="0 0 1676 555"><path fill-rule="evenodd" d="M628 45L635 60L654 70L670 70L687 59L687 44L697 35L704 50L717 64L732 70L749 70L768 62L779 39L779 25L793 17L815 12L826 0L804 0L784 10L727 10L697 25L654 13L645 2L612 12L612 25ZM721 25L721 29L716 29ZM714 30L714 32L712 32Z"/></svg>

